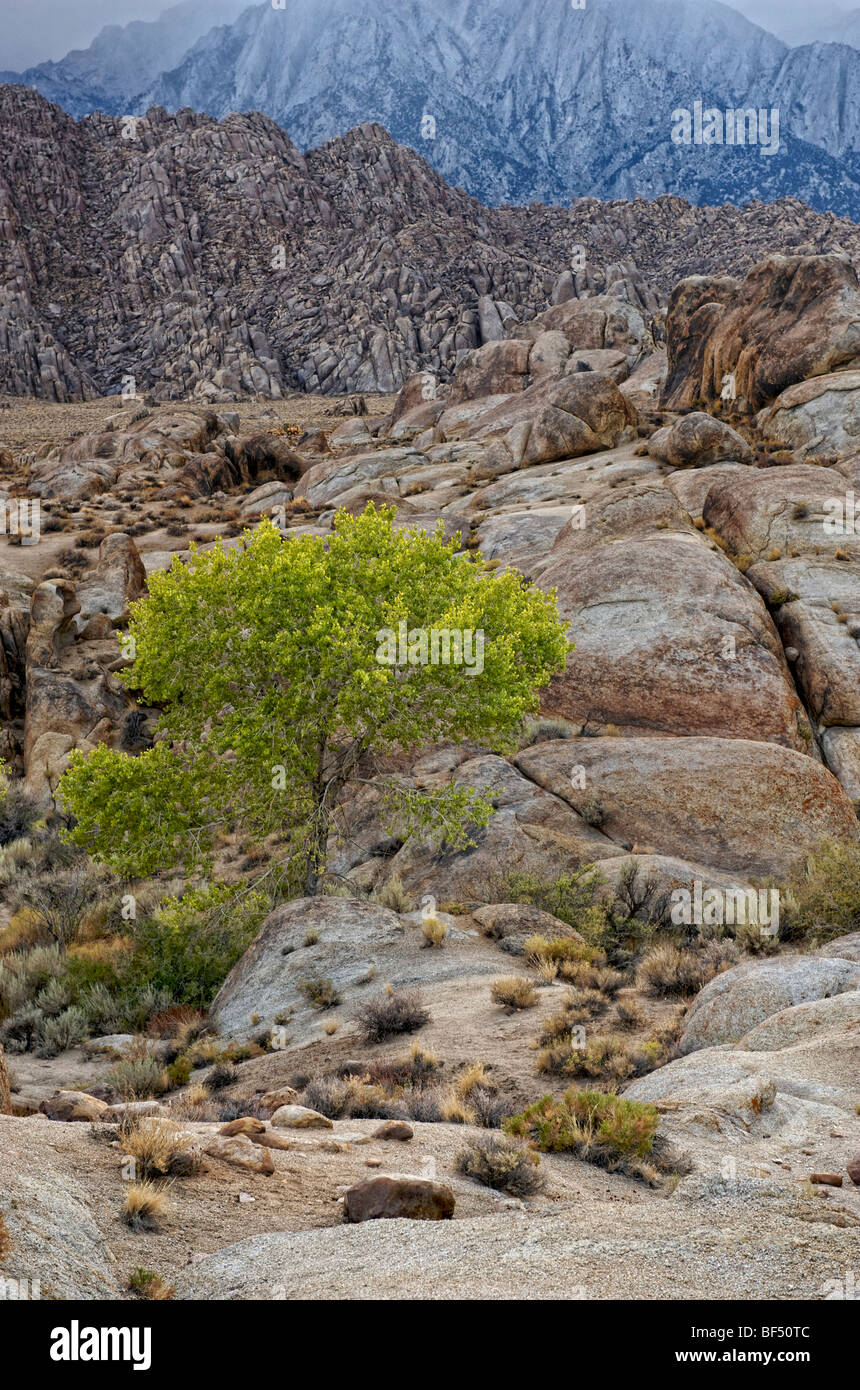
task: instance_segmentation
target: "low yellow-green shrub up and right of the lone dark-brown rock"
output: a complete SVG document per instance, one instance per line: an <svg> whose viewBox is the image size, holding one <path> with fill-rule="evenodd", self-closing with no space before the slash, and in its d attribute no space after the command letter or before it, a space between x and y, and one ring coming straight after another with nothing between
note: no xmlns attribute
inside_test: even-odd
<svg viewBox="0 0 860 1390"><path fill-rule="evenodd" d="M646 1158L654 1147L657 1109L603 1091L545 1095L504 1122L507 1134L531 1138L545 1154L574 1154L611 1170Z"/></svg>

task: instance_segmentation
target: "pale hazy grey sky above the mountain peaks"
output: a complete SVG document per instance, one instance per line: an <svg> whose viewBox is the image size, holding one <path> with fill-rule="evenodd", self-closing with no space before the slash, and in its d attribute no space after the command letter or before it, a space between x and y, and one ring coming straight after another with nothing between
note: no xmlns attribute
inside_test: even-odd
<svg viewBox="0 0 860 1390"><path fill-rule="evenodd" d="M206 6L207 0L197 0ZM249 0L253 4L254 0ZM0 67L28 68L46 58L61 58L69 49L85 49L106 24L154 19L169 0L0 0ZM735 0L757 24L775 29L781 21L828 10L853 10L860 0Z"/></svg>

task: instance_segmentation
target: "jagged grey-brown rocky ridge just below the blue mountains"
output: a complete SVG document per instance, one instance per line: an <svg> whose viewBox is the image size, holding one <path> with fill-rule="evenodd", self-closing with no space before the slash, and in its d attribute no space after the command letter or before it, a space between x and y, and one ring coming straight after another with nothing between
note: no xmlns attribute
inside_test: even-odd
<svg viewBox="0 0 860 1390"><path fill-rule="evenodd" d="M0 227L0 391L56 400L392 391L549 302L615 285L653 313L775 250L860 259L796 200L486 208L377 125L301 156L260 114L75 122L17 86Z"/></svg>

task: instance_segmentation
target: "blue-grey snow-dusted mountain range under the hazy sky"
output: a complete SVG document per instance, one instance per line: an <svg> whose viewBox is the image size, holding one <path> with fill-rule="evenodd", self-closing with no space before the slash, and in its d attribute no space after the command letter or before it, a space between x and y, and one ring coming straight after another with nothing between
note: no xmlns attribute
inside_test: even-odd
<svg viewBox="0 0 860 1390"><path fill-rule="evenodd" d="M68 82L76 58L65 97L54 71L29 81L74 114L258 110L301 149L378 121L489 203L795 195L860 220L860 51L791 47L716 0L283 0L226 25L203 8L218 26L136 95L104 44L90 68L86 54L46 65ZM86 96L96 88L101 101ZM778 107L777 153L674 143L672 113L697 100Z"/></svg>

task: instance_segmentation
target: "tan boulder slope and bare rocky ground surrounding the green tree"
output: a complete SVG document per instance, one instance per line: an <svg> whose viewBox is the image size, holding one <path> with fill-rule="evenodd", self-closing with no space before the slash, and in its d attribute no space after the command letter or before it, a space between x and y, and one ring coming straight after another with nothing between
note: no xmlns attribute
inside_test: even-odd
<svg viewBox="0 0 860 1390"><path fill-rule="evenodd" d="M203 543L221 543L226 527L224 543L236 545L243 524L272 514L288 538L326 535L338 507L388 502L397 525L442 520L465 550L553 587L577 644L518 753L442 745L397 764L417 788L454 778L492 792L475 848L399 842L372 777L345 802L329 865L354 899L278 908L211 1011L242 1047L288 1031L226 1091L240 1131L183 1111L182 1097L175 1109L147 1102L206 1166L176 1188L164 1258L179 1297L507 1297L529 1280L540 1297L693 1297L716 1284L736 1297L850 1297L856 931L766 959L717 942L721 973L684 1019L671 1024L664 1001L649 1002L649 1026L674 1027L678 1055L621 1068L615 1083L657 1106L677 1156L668 1184L550 1154L547 1188L511 1205L457 1168L477 1102L456 1126L446 1116L463 1120L463 1109L436 1123L408 1112L402 1141L377 1120L307 1111L314 1098L331 1108L345 1077L361 1088L435 1065L404 1059L402 1040L363 1041L356 1011L386 983L421 988L418 1040L442 1056L447 1105L478 1088L482 1105L510 1113L559 1091L559 1077L538 1076L534 1044L565 987L522 951L535 931L567 929L499 897L511 870L549 883L595 863L646 917L670 890L784 884L821 841L856 847L859 368L847 257L772 256L742 279L685 279L665 316L614 286L543 304L470 350L450 381L421 371L383 414L335 428L301 430L290 402L108 403L100 428L6 456L7 486L39 498L46 524L39 545L7 550L19 564L0 602L3 756L47 813L72 748L147 745L157 712L135 709L115 680L122 630L147 573L182 555L195 527ZM11 436L19 403L8 404ZM82 543L69 548L72 537ZM368 898L395 876L414 901L435 898L440 949L422 948L417 910ZM542 986L534 1012L506 1013L490 997L511 956ZM338 995L322 1015L310 977ZM611 1004L614 1019L631 992ZM15 1059L21 1113L0 1119L17 1200L6 1216L17 1272L51 1244L58 1293L78 1280L118 1297L119 1268L144 1264L149 1238L128 1234L111 1207L119 1115L111 1097L46 1097L51 1081L79 1090L88 1065L76 1052L43 1072ZM25 1113L40 1104L43 1115ZM57 1123L75 1115L108 1143ZM58 1150L44 1143L57 1133ZM342 1225L340 1198L368 1172L393 1182L389 1215L408 1215L397 1202L420 1180L450 1190L453 1222Z"/></svg>

